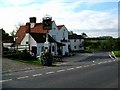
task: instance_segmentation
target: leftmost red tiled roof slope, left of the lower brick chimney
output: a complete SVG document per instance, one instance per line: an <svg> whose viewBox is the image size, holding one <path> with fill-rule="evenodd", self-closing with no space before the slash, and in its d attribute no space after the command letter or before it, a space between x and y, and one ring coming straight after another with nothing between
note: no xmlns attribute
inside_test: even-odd
<svg viewBox="0 0 120 90"><path fill-rule="evenodd" d="M20 44L26 33L26 26L20 26L19 30L16 33L16 44Z"/></svg>

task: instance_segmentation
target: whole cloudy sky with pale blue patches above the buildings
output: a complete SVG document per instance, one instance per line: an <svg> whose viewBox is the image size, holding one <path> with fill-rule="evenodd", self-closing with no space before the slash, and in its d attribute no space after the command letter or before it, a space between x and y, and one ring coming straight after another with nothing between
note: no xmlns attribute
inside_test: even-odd
<svg viewBox="0 0 120 90"><path fill-rule="evenodd" d="M89 37L118 37L119 0L0 0L0 29L7 33L36 17L48 14L57 25Z"/></svg>

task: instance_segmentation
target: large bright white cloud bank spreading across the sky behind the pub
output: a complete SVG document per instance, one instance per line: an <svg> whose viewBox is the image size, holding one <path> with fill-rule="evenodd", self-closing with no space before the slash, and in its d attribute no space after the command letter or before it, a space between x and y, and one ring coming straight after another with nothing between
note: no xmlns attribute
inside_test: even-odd
<svg viewBox="0 0 120 90"><path fill-rule="evenodd" d="M31 16L36 16L37 22L40 22L40 19L42 19L45 14L50 14L53 20L56 21L56 24L65 24L68 30L73 31L78 29L116 30L118 25L117 15L109 11L82 10L80 12L75 12L74 9L81 5L83 0L47 0L44 3L33 3L30 5L29 3L32 3L33 0L4 1L6 1L7 4L13 5L9 8L0 8L0 28L4 28L7 32L11 32L15 29L15 25L18 23L25 24L29 21L29 17ZM28 5L20 6L21 4Z"/></svg>

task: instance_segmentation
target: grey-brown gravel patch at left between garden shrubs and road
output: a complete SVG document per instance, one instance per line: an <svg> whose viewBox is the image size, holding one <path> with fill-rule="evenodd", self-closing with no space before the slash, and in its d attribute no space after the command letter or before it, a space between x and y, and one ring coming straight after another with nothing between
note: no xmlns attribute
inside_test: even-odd
<svg viewBox="0 0 120 90"><path fill-rule="evenodd" d="M27 64L15 60L11 60L8 58L2 58L2 73L8 73L8 72L15 72L15 71L22 71L22 70L29 70L29 69L35 69L40 68L39 65L32 65Z"/></svg>

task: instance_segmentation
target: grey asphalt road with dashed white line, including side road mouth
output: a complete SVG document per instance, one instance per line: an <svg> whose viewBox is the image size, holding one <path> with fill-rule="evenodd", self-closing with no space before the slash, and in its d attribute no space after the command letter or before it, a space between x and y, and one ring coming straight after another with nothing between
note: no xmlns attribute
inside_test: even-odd
<svg viewBox="0 0 120 90"><path fill-rule="evenodd" d="M53 67L3 74L3 88L118 88L118 60L109 52L69 57Z"/></svg>

